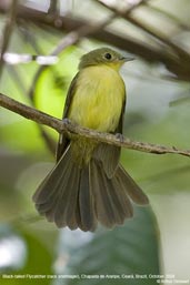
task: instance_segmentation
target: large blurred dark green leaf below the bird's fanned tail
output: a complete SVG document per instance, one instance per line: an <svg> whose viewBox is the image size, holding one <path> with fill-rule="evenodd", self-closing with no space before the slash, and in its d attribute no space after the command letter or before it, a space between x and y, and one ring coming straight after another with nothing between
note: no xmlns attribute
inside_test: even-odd
<svg viewBox="0 0 190 285"><path fill-rule="evenodd" d="M92 240L82 246L76 244L79 243L79 238L73 242L63 274L79 274L80 278L68 279L67 285L86 285L89 281L90 284L98 285L116 284L116 282L117 284L129 282L130 285L156 284L156 279L149 278L149 274L160 274L157 222L150 207L136 206L134 210L134 217L127 221L124 226L117 226L112 231L100 228ZM64 246L68 250L66 234ZM83 278L83 274L98 275L98 277ZM137 278L136 274L144 277ZM100 278L100 275L104 278ZM119 277L111 278L113 275ZM126 275L131 277L126 278Z"/></svg>

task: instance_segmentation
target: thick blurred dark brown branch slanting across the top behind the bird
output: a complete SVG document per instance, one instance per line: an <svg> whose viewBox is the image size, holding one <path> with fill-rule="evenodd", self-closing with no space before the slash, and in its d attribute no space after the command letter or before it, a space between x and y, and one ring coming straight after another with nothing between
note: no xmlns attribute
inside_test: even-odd
<svg viewBox="0 0 190 285"><path fill-rule="evenodd" d="M33 22L42 29L50 27L51 29L59 30L61 32L72 32L80 29L81 27L88 27L89 21L66 14L63 17L58 17L54 14L48 14L43 11L38 11L32 8L27 8L24 6L19 6L17 11L17 21L20 26L27 22ZM7 9L1 4L0 1L0 13L6 13ZM169 71L174 73L179 80L188 81L190 79L190 64L177 60L173 54L170 54L162 48L154 48L148 42L141 42L137 39L129 37L127 33L122 34L114 33L111 30L100 29L88 34L89 38L96 39L107 44L112 44L119 49L134 53L148 62L162 62Z"/></svg>

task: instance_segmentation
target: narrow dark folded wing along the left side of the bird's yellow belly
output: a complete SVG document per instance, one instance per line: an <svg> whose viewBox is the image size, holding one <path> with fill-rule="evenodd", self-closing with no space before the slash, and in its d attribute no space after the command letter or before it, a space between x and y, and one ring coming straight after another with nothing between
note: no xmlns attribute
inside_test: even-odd
<svg viewBox="0 0 190 285"><path fill-rule="evenodd" d="M72 101L73 95L76 93L78 77L79 77L79 72L76 74L76 77L73 78L73 80L71 81L71 84L69 86L68 94L67 94L67 98L66 98L66 104L64 104L62 119L68 116L69 108L71 105L71 101ZM70 142L70 140L66 136L66 134L61 133L59 135L59 141L58 141L58 145L57 145L57 162L62 156L62 154L63 154L64 150L67 149L69 142Z"/></svg>

